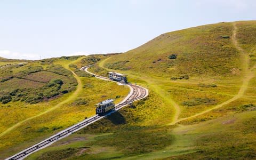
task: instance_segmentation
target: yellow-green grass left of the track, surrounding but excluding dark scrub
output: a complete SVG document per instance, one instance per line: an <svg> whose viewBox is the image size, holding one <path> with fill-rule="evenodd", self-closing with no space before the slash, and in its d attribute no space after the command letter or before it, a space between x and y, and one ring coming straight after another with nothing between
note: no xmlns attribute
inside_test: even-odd
<svg viewBox="0 0 256 160"><path fill-rule="evenodd" d="M113 82L102 82L94 77L78 77L69 68L69 65L83 58L70 60L65 57L31 62L33 64L36 63L36 65L39 63L45 69L53 64L55 66L62 66L73 75L72 77L77 81L77 86L75 90L69 93L39 103L28 104L22 101L11 101L7 104L0 105L1 115L6 117L6 119L1 119L0 121L0 129L2 131L0 133L0 158L11 156L61 129L65 129L70 125L82 121L86 117L94 115L94 104L100 100L113 98L118 102L128 94L128 87L119 86ZM56 73L60 71L58 70L59 67L55 67L55 69L57 69L54 70ZM3 68L3 70L6 70L6 68ZM13 68L12 73L19 73L19 71L23 70L20 67ZM44 76L47 75L48 77L43 78L41 75L42 72ZM28 74L27 77L32 78L29 81L39 79L44 82L47 79L49 81L51 76L54 75L54 73L49 71L42 72ZM59 76L58 78L63 79L65 82L65 77ZM56 78L55 75L52 78ZM70 83L68 86L71 86L71 82L69 81L68 83ZM102 86L106 87L102 88ZM65 117L65 121L63 121L63 117Z"/></svg>

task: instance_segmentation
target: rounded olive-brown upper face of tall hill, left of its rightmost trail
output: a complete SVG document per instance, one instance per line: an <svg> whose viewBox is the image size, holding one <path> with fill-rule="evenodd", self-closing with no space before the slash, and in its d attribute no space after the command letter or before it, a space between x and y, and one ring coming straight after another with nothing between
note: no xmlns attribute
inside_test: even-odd
<svg viewBox="0 0 256 160"><path fill-rule="evenodd" d="M162 34L105 62L105 67L132 70L167 79L188 76L232 76L239 53L230 38L232 23L218 23ZM172 59L173 58L175 59Z"/></svg>

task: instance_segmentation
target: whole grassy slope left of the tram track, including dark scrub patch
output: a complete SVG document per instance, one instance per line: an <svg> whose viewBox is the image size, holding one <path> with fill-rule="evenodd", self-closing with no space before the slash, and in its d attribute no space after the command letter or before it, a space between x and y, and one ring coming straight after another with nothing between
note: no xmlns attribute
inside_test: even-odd
<svg viewBox="0 0 256 160"><path fill-rule="evenodd" d="M95 103L119 102L128 94L128 87L77 72L74 64L85 58L90 59L61 57L0 68L0 159L94 115Z"/></svg>

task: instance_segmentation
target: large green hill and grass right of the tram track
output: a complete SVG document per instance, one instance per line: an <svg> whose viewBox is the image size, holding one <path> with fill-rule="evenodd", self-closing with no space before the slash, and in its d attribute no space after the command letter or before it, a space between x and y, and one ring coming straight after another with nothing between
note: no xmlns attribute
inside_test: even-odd
<svg viewBox="0 0 256 160"><path fill-rule="evenodd" d="M256 21L221 22L90 57L149 96L27 159L255 159L255 36Z"/></svg>

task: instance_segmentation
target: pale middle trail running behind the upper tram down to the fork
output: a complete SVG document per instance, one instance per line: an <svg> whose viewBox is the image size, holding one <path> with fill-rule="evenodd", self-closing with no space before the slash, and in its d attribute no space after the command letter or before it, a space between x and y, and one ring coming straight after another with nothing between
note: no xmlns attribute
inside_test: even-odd
<svg viewBox="0 0 256 160"><path fill-rule="evenodd" d="M111 58L111 57L109 57ZM109 58L106 58L105 60L102 60L98 63L99 67L100 68L103 68L103 69L106 69L108 71L111 71L109 68L106 68L104 67L104 63L109 59ZM130 73L130 72L128 72ZM143 74L136 74L136 73L130 73L131 75L138 75L138 76L135 76L139 79L142 79L143 81L145 81L146 83L148 84L155 84L155 81L154 79L151 79L150 77L146 76L146 75L143 75ZM165 92L161 89L161 87L157 86L157 85L150 85L150 87L160 96L162 97L168 104L170 104L171 106L174 107L174 110L175 110L175 113L172 117L172 122L171 124L175 124L175 122L177 121L177 119L179 118L179 115L180 115L180 106L178 105L178 103L176 103L173 99L170 98L169 95L166 95Z"/></svg>

